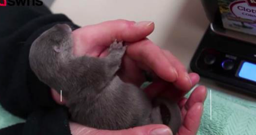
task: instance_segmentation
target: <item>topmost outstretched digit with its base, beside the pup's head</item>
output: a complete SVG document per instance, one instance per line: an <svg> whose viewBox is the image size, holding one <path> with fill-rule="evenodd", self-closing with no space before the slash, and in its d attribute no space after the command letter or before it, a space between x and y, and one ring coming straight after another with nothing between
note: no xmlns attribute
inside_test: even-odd
<svg viewBox="0 0 256 135"><path fill-rule="evenodd" d="M146 38L154 31L154 26L153 22L147 21L136 23L127 20L114 20L82 27L73 31L76 45L74 54L83 56L86 52L87 55L98 56L115 40L136 42Z"/></svg>

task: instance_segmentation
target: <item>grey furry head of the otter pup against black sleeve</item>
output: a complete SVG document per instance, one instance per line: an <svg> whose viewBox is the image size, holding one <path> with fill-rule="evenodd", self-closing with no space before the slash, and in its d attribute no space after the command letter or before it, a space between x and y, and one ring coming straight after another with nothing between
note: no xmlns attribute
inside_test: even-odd
<svg viewBox="0 0 256 135"><path fill-rule="evenodd" d="M30 67L42 82L51 86L56 81L59 64L72 50L72 44L72 29L66 24L53 26L33 42L29 53Z"/></svg>

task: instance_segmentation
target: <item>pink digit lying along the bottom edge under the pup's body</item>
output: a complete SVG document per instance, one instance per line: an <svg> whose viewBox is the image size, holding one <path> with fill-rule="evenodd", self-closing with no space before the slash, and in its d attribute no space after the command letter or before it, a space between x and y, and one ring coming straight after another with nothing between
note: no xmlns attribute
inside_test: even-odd
<svg viewBox="0 0 256 135"><path fill-rule="evenodd" d="M172 135L171 129L166 125L152 124L139 126L122 130L99 130L95 128L86 127L77 123L70 123L71 133L73 135L130 135L130 134L145 134L145 135Z"/></svg>

